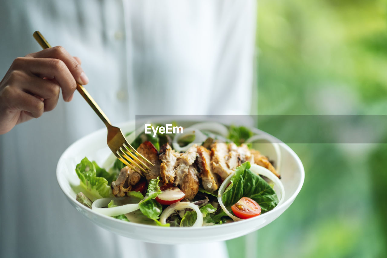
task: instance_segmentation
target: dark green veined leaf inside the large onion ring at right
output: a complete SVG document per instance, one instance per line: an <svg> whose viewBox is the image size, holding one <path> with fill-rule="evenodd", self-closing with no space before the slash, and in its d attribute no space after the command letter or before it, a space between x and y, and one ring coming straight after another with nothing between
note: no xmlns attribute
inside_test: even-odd
<svg viewBox="0 0 387 258"><path fill-rule="evenodd" d="M262 213L272 210L278 204L278 197L272 187L259 175L250 170L250 162L245 162L235 169L231 184L222 195L226 208L230 208L243 196L256 201Z"/></svg>

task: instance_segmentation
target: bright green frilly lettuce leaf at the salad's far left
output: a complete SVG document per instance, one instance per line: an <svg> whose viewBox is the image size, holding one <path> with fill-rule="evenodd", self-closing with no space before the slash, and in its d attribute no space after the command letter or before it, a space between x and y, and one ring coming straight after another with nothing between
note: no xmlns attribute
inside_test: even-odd
<svg viewBox="0 0 387 258"><path fill-rule="evenodd" d="M110 187L113 177L106 170L96 166L95 162L85 157L75 167L75 172L79 177L80 185L87 190L89 196L94 199L113 196Z"/></svg>

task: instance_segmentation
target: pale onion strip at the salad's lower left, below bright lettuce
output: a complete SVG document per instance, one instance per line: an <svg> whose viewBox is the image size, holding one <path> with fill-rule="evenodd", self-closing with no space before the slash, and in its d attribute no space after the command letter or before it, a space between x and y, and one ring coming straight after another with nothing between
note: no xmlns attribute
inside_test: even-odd
<svg viewBox="0 0 387 258"><path fill-rule="evenodd" d="M124 200L125 198L127 197L119 197L119 198L109 197L109 198L97 199L91 205L91 209L94 210L95 212L101 213L109 217L118 216L129 212L134 212L135 210L139 209L138 203L125 204L125 205L116 206L112 208L102 208L102 207L108 206L111 200L121 201L121 200Z"/></svg>

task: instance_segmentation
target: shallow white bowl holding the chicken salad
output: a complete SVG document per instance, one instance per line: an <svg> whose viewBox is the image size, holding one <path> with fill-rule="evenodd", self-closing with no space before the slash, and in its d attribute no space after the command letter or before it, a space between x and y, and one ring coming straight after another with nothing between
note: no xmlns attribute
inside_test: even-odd
<svg viewBox="0 0 387 258"><path fill-rule="evenodd" d="M163 121L164 123L168 122L166 119L150 120L152 122L160 123ZM185 121L182 123L194 124L197 122L200 121ZM179 125L180 124L181 123L179 122ZM133 131L135 128L135 121L121 124L120 128L123 132ZM250 129L257 134L269 135L256 128ZM285 189L285 199L281 205L273 210L243 221L199 228L158 227L124 222L94 212L75 200L75 196L78 192L75 193L73 189L76 189L76 187L79 186L79 179L77 174L75 174L75 166L84 157L89 158L89 160L95 160L99 165L104 163L106 158L111 154L110 149L106 144L106 134L106 129L101 129L71 144L71 146L63 152L58 161L57 180L68 201L70 201L82 215L104 229L133 239L161 244L180 244L222 241L240 237L264 227L279 217L279 215L293 203L304 182L305 173L300 158L298 158L296 153L291 150L288 145L280 143L281 182ZM278 140L277 142L280 141Z"/></svg>

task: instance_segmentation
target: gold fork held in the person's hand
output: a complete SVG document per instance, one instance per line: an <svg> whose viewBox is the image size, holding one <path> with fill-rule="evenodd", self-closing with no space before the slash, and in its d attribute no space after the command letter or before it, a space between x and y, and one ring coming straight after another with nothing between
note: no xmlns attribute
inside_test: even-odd
<svg viewBox="0 0 387 258"><path fill-rule="evenodd" d="M39 31L35 31L33 34L36 41L38 41L39 45L43 49L50 48L50 44L46 41L46 39L40 34ZM80 95L89 103L90 107L96 112L99 118L104 122L106 128L108 129L108 146L110 150L114 153L114 155L121 160L122 163L130 167L136 172L139 172L136 167L146 173L145 169L149 170L149 167L145 165L139 158L143 159L147 163L153 166L153 164L143 157L140 153L138 153L125 139L120 128L116 126L112 126L108 117L104 114L101 108L97 105L97 103L93 100L93 98L89 95L85 88L82 85L77 83L77 90ZM143 168L139 163L145 168ZM140 173L140 172L139 172ZM141 173L140 173L141 174Z"/></svg>

